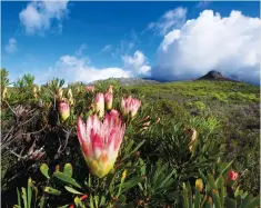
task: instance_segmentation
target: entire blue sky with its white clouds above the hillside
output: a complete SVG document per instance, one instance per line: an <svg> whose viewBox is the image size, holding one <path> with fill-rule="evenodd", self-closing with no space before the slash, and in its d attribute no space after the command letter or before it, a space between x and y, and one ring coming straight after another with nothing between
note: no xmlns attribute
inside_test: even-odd
<svg viewBox="0 0 261 208"><path fill-rule="evenodd" d="M132 76L174 80L217 69L230 77L259 81L254 78L260 76L258 1L2 2L1 7L2 67L11 79L30 72L38 82L52 77L69 82ZM233 10L241 13L231 14ZM218 27L215 33L209 32ZM219 32L227 34L220 39ZM208 46L228 43L231 51L221 47L215 53L214 46L205 48L204 39ZM202 56L193 51L195 48ZM245 60L239 63L242 57ZM254 77L244 76L249 70Z"/></svg>

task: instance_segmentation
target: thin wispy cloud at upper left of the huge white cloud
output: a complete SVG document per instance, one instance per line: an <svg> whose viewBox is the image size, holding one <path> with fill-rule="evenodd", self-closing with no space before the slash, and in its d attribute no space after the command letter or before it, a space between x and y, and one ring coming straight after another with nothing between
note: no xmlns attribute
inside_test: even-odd
<svg viewBox="0 0 261 208"><path fill-rule="evenodd" d="M164 36L173 28L182 26L185 21L185 8L179 7L173 10L169 10L157 22L150 22L148 24L148 29Z"/></svg>

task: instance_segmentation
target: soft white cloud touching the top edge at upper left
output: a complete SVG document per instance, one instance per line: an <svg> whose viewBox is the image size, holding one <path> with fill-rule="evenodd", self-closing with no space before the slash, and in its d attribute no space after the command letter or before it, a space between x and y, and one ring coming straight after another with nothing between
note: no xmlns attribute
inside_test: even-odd
<svg viewBox="0 0 261 208"><path fill-rule="evenodd" d="M52 27L53 21L58 22L57 27L61 31L61 21L68 13L67 7L68 0L32 1L19 13L19 18L28 34L43 33Z"/></svg>

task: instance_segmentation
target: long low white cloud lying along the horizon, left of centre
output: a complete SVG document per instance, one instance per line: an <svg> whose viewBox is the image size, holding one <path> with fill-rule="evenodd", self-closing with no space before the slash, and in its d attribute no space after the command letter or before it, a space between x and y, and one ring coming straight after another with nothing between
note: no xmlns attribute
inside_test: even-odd
<svg viewBox="0 0 261 208"><path fill-rule="evenodd" d="M77 58L74 56L62 56L51 67L49 71L41 76L39 82L44 83L56 77L64 79L68 82L82 81L92 82L94 80L102 80L108 78L128 78L131 77L130 71L124 71L121 68L96 68L88 65L89 59Z"/></svg>

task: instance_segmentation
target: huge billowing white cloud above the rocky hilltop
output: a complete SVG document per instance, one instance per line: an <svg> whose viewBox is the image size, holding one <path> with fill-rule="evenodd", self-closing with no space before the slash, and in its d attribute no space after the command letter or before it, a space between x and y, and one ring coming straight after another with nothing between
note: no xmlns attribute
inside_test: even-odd
<svg viewBox="0 0 261 208"><path fill-rule="evenodd" d="M218 70L227 77L258 83L260 27L259 18L245 17L240 11L221 17L204 10L164 36L152 77L194 79Z"/></svg>

